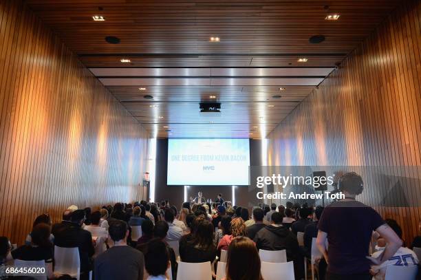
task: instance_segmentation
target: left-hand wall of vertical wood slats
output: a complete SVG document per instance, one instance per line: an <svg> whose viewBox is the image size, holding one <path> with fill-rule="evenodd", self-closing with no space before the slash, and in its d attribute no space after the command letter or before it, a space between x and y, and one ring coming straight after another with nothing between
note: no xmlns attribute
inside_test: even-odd
<svg viewBox="0 0 421 280"><path fill-rule="evenodd" d="M147 132L17 0L0 1L0 235L141 198Z"/></svg>

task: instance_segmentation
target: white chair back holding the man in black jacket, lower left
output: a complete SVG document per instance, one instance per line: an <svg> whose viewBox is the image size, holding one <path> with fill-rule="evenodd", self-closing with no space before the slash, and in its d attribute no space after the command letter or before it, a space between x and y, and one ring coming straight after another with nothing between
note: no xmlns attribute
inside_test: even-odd
<svg viewBox="0 0 421 280"><path fill-rule="evenodd" d="M62 248L54 246L54 275L68 274L79 280L80 258L79 248Z"/></svg>

